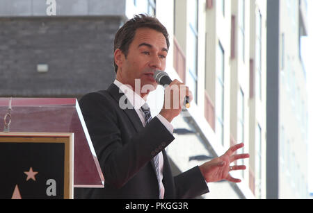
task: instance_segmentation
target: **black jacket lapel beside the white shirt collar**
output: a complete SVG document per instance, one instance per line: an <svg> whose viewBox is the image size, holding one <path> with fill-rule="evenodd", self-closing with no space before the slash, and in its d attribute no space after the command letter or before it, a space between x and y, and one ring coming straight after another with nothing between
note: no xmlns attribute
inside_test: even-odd
<svg viewBox="0 0 313 213"><path fill-rule="evenodd" d="M117 101L119 105L120 101L121 103L123 103L124 101L127 108L126 109L121 108L121 110L123 110L125 114L127 114L127 117L129 118L131 123L133 123L137 132L139 132L143 128L143 123L141 123L141 119L139 119L136 110L134 110L134 107L131 105L131 103L129 103L125 94L114 83L111 84L107 91L111 94L111 96L113 96L113 99L115 99L115 101Z"/></svg>

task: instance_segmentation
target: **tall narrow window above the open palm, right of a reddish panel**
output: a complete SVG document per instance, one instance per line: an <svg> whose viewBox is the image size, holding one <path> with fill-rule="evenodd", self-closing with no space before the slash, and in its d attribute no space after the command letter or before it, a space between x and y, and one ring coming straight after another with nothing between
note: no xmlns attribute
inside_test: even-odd
<svg viewBox="0 0 313 213"><path fill-rule="evenodd" d="M224 49L219 43L216 53L216 135L223 144L224 135Z"/></svg>

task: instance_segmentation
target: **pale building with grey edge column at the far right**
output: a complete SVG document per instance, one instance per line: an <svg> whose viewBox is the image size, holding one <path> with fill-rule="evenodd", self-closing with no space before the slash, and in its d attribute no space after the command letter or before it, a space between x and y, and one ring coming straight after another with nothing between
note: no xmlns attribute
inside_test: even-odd
<svg viewBox="0 0 313 213"><path fill-rule="evenodd" d="M300 51L307 2L268 1L267 17L267 194L308 198L307 79Z"/></svg>

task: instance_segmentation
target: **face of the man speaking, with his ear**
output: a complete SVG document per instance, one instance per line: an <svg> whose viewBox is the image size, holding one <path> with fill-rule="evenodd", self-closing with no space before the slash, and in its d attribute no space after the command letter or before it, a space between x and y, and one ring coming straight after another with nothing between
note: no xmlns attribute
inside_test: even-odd
<svg viewBox="0 0 313 213"><path fill-rule="evenodd" d="M131 85L133 90L135 79L140 79L141 89L145 85L152 85L145 87L151 90L141 90L141 95L149 94L157 88L157 82L153 78L154 71L163 71L166 68L167 53L166 38L162 33L150 28L138 28L133 42L129 45L127 58L119 49L114 53L115 63L118 65L116 79Z"/></svg>

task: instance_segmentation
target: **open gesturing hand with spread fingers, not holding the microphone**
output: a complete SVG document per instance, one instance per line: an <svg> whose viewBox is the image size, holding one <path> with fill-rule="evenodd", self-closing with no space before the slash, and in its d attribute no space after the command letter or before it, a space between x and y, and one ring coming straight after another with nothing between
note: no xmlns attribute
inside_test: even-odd
<svg viewBox="0 0 313 213"><path fill-rule="evenodd" d="M224 155L216 157L213 160L202 164L200 166L200 171L202 172L204 179L207 182L217 182L220 180L229 180L230 182L241 182L240 179L236 179L230 176L230 171L243 170L246 169L246 166L240 165L230 167L230 164L235 160L250 157L249 154L234 155L234 153L243 146L244 146L243 143L236 144L230 147Z"/></svg>

